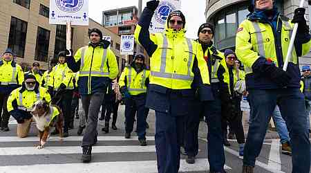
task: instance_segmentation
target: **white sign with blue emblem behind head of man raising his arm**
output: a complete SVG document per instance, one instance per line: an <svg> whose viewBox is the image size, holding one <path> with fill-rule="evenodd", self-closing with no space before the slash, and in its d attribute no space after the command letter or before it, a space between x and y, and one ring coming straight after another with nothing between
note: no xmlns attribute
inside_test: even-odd
<svg viewBox="0 0 311 173"><path fill-rule="evenodd" d="M169 13L175 10L180 10L181 0L162 0L151 20L149 27L150 33L162 33L167 24Z"/></svg>

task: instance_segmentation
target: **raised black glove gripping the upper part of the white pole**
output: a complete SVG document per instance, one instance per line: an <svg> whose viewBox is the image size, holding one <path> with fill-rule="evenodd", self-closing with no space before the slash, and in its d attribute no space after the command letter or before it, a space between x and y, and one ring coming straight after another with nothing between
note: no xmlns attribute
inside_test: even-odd
<svg viewBox="0 0 311 173"><path fill-rule="evenodd" d="M309 26L305 21L305 8L296 8L292 23L298 23L298 33L309 33Z"/></svg>

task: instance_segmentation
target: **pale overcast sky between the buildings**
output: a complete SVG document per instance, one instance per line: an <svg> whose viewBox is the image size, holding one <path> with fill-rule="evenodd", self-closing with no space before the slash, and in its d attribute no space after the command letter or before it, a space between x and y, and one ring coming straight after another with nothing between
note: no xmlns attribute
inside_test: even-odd
<svg viewBox="0 0 311 173"><path fill-rule="evenodd" d="M147 0L142 0L142 8ZM137 6L138 0L89 0L89 17L102 24L102 11ZM206 0L181 0L181 10L186 17L187 37L196 38L198 27L205 22Z"/></svg>

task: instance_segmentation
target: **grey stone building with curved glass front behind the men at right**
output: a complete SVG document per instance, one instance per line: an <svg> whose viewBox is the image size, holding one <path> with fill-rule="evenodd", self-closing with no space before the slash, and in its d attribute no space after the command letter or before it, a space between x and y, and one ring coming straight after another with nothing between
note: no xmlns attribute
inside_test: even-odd
<svg viewBox="0 0 311 173"><path fill-rule="evenodd" d="M276 6L287 17L292 18L294 9L298 8L300 0L277 0ZM207 0L205 16L207 21L215 26L214 45L224 51L235 47L235 37L238 25L249 14L249 0ZM306 18L310 21L311 1L305 1ZM310 23L309 23L310 24ZM299 58L299 64L311 64L311 53Z"/></svg>

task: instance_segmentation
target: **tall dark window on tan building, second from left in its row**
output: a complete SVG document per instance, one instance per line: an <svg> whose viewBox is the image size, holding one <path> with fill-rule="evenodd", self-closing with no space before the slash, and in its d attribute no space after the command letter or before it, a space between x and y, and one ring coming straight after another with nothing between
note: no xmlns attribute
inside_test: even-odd
<svg viewBox="0 0 311 173"><path fill-rule="evenodd" d="M38 26L35 60L48 62L48 46L50 44L50 30Z"/></svg>

